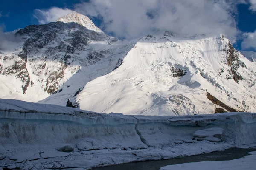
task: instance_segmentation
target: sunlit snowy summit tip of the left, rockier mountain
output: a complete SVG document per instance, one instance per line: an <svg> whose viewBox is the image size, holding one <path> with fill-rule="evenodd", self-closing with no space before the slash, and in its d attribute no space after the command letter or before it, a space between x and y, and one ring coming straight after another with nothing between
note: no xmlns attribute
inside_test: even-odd
<svg viewBox="0 0 256 170"><path fill-rule="evenodd" d="M63 23L74 22L86 27L89 30L102 32L101 29L99 29L97 26L94 25L92 20L90 20L87 16L77 13L76 11L73 11L64 17L59 18L57 21L61 21Z"/></svg>

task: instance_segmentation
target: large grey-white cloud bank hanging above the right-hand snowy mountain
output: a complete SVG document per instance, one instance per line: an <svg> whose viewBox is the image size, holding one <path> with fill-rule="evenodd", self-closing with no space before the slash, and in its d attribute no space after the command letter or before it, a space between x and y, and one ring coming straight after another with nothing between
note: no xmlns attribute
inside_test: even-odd
<svg viewBox="0 0 256 170"><path fill-rule="evenodd" d="M179 34L224 34L233 38L236 4L244 0L91 0L76 5L76 11L101 16L107 33L135 38L152 30Z"/></svg>

